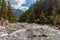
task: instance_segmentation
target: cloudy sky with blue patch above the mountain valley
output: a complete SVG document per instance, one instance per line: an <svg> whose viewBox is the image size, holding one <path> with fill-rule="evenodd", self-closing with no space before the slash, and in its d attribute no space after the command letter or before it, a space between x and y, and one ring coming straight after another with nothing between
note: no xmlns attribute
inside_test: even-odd
<svg viewBox="0 0 60 40"><path fill-rule="evenodd" d="M27 10L29 6L36 2L36 0L6 0L10 1L12 8L21 9L23 11Z"/></svg>

